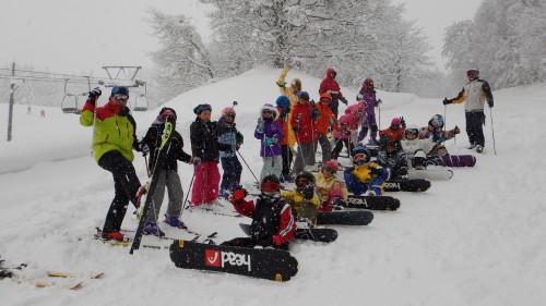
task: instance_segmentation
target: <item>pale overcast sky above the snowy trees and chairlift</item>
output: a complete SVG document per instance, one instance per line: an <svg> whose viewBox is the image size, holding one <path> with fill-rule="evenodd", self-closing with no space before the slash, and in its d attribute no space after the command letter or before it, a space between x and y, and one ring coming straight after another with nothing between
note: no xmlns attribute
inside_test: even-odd
<svg viewBox="0 0 546 306"><path fill-rule="evenodd" d="M441 64L443 30L474 16L479 0L394 0L406 2L407 19L430 38L430 56ZM206 7L198 0L0 0L0 66L15 61L57 73L93 71L103 65L151 65L156 39L144 19L147 9L192 16L210 35Z"/></svg>

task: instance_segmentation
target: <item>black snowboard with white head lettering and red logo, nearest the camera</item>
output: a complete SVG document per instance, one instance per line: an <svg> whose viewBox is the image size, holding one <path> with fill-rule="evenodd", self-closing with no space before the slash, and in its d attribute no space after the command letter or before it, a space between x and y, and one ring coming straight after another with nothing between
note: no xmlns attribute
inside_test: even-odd
<svg viewBox="0 0 546 306"><path fill-rule="evenodd" d="M289 281L298 272L298 261L288 252L276 248L247 248L174 241L170 260L182 269L239 274L278 282Z"/></svg>

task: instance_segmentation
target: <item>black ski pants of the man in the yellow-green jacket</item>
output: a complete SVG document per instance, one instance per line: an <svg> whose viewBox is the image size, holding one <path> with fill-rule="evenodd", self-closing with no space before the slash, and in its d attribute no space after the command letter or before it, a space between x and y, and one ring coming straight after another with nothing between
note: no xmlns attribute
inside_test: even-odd
<svg viewBox="0 0 546 306"><path fill-rule="evenodd" d="M131 201L136 206L136 193L141 186L133 164L120 151L108 151L98 160L98 166L111 172L114 176L114 199L106 213L104 233L119 232L127 206Z"/></svg>

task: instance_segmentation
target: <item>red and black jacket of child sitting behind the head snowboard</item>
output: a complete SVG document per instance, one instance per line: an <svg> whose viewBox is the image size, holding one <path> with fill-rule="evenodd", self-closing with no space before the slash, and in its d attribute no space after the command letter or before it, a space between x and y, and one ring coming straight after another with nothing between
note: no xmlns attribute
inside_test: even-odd
<svg viewBox="0 0 546 306"><path fill-rule="evenodd" d="M285 199L270 199L260 195L256 204L245 199L233 200L233 204L237 212L252 218L250 233L258 242L272 237L276 244L283 244L294 236L296 222Z"/></svg>

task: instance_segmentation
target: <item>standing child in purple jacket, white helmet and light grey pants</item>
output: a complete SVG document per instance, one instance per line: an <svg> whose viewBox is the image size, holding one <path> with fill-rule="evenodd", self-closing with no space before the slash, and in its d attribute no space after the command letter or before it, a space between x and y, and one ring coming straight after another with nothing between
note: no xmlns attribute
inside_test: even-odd
<svg viewBox="0 0 546 306"><path fill-rule="evenodd" d="M261 140L260 156L263 158L260 182L270 174L281 178L281 172L283 171L282 149L278 144L283 138L283 128L276 121L277 118L277 109L266 103L262 107L260 119L258 119L258 125L256 126L254 137Z"/></svg>

